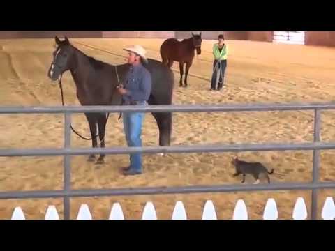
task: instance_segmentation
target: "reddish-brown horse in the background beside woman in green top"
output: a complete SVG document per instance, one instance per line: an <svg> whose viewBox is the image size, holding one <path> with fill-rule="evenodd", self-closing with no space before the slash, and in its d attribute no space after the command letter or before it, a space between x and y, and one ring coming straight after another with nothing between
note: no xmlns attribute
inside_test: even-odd
<svg viewBox="0 0 335 251"><path fill-rule="evenodd" d="M183 75L184 75L184 64L186 63L185 71L185 87L187 84L188 70L192 66L193 59L195 56L194 51L197 50L197 54L201 54L201 32L200 35L194 35L192 33L192 38L184 39L178 41L176 38L169 38L164 41L161 45L161 57L163 64L169 66L170 68L173 65L174 61L179 62L180 70L180 86L183 86Z"/></svg>

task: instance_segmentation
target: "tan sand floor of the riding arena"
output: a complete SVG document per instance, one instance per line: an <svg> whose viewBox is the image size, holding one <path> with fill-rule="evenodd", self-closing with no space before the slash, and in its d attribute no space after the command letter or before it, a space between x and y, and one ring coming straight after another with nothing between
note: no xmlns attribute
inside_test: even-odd
<svg viewBox="0 0 335 251"><path fill-rule="evenodd" d="M163 40L155 39L73 39L84 53L109 63L124 63L123 45L140 43L148 56L160 59ZM175 72L174 104L241 104L273 102L329 102L334 100L335 49L304 45L278 45L228 40L230 56L226 88L209 91L214 41L206 40L202 54L191 68L188 89L179 88L179 72ZM60 105L59 87L47 78L52 61L54 40L0 40L0 105L47 106ZM100 50L95 50L98 48ZM107 50L111 53L102 52ZM179 68L174 63L173 68ZM63 77L65 101L79 105L70 74ZM335 138L334 112L322 112L322 140ZM312 112L234 112L176 113L173 118L172 144L234 144L310 142L313 139ZM0 148L61 147L64 144L62 115L1 115ZM82 114L73 116L73 126L89 136L87 121ZM151 114L144 122L145 146L158 144L158 129ZM76 135L73 146L89 147L90 142ZM107 146L125 146L122 124L117 114L107 123ZM124 177L119 168L128 165L127 155L108 155L105 165L87 162L87 156L72 159L73 188L124 188L161 185L209 185L239 183L230 164L232 153L169 154L166 157L146 155L144 174ZM260 161L285 176L271 176L273 182L311 181L311 151L273 151L241 153L240 158ZM52 190L63 184L63 158L1 158L0 190ZM322 151L320 178L335 179L334 151ZM253 182L251 178L248 182ZM262 180L262 182L265 182ZM320 191L319 208L331 190ZM237 199L244 199L251 219L262 218L268 197L278 204L279 218L291 218L297 197L304 197L308 206L309 191L232 192L202 195L157 195L133 197L100 197L71 200L71 215L75 218L80 204L87 203L95 219L106 219L115 201L121 203L126 218L138 219L146 201L153 201L158 218L169 219L177 200L184 201L188 218L201 218L204 201L212 199L218 218L230 219ZM47 205L57 206L63 213L62 199L1 200L0 218L10 218L13 208L21 206L28 219L40 218ZM320 215L320 213L319 213Z"/></svg>

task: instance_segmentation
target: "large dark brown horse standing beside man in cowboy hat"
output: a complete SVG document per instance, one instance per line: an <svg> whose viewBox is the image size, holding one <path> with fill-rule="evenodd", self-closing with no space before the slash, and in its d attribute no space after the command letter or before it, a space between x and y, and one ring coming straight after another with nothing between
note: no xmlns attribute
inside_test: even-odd
<svg viewBox="0 0 335 251"><path fill-rule="evenodd" d="M77 98L81 105L120 105L121 96L117 92L118 75L121 82L126 77L130 67L128 64L112 66L108 63L98 61L80 52L70 44L68 38L64 41L55 38L57 49L54 51L54 59L48 71L48 77L52 81L59 79L61 74L70 70L70 73L77 88ZM159 61L148 59L148 64L144 65L151 73L151 96L149 105L171 105L174 86L174 74L172 70ZM169 146L172 131L171 112L152 113L159 128L160 146ZM85 114L89 122L92 146L97 147L97 127L98 136L101 141L101 148L105 147L105 126L107 114L87 113ZM98 158L97 163L104 162L105 155ZM89 161L94 161L95 155L89 156Z"/></svg>

